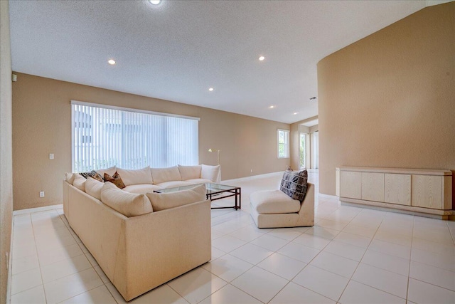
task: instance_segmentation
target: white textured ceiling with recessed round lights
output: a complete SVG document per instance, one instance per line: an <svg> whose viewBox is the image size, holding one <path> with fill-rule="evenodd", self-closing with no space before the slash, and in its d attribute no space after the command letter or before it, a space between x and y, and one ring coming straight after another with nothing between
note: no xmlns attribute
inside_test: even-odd
<svg viewBox="0 0 455 304"><path fill-rule="evenodd" d="M21 73L291 123L318 114L318 102L309 101L317 96L318 61L426 5L11 0L12 65Z"/></svg>

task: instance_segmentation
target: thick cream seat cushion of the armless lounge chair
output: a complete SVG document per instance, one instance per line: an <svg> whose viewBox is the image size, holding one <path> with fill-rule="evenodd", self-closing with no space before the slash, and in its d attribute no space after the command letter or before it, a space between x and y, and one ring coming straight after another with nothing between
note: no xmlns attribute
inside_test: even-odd
<svg viewBox="0 0 455 304"><path fill-rule="evenodd" d="M287 214L300 211L300 201L291 199L280 190L253 192L250 203L258 214Z"/></svg>

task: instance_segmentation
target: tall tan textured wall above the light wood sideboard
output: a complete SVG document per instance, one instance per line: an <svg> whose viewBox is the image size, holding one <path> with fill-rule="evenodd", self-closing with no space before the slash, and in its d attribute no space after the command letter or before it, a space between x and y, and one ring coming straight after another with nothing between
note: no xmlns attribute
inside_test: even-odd
<svg viewBox="0 0 455 304"><path fill-rule="evenodd" d="M455 2L318 63L319 190L339 166L455 170Z"/></svg>

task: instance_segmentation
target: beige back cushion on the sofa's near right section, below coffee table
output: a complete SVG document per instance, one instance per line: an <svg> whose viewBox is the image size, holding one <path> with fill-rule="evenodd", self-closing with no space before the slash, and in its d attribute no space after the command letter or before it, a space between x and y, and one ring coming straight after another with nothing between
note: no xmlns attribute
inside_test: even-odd
<svg viewBox="0 0 455 304"><path fill-rule="evenodd" d="M188 190L171 193L147 193L154 211L175 208L186 204L205 201L205 184L200 184Z"/></svg>

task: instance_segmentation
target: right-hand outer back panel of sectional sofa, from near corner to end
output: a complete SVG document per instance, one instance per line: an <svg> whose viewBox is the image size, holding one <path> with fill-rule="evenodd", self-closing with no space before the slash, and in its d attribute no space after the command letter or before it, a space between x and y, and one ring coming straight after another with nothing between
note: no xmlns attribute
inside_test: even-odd
<svg viewBox="0 0 455 304"><path fill-rule="evenodd" d="M178 206L125 221L126 300L211 259L210 201ZM121 286L122 284L120 284Z"/></svg>

